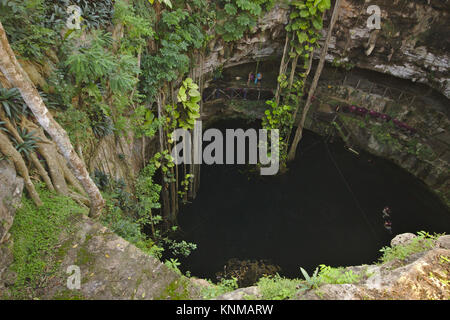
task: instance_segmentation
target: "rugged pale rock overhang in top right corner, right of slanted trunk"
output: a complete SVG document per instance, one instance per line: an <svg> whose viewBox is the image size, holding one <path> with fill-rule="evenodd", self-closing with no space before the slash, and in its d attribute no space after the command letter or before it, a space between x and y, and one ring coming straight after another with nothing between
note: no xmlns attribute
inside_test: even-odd
<svg viewBox="0 0 450 320"><path fill-rule="evenodd" d="M380 30L367 28L369 5L381 9ZM450 98L448 19L443 1L345 0L327 59L425 83Z"/></svg>

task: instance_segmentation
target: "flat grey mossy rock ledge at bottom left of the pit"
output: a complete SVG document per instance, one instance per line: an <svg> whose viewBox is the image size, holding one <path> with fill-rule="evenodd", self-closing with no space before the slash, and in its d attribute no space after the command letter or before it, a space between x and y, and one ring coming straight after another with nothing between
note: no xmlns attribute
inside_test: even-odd
<svg viewBox="0 0 450 320"><path fill-rule="evenodd" d="M152 256L86 216L74 218L61 235L57 275L38 293L41 299L195 299L197 286ZM79 269L78 269L79 268ZM79 288L69 288L74 270ZM68 272L69 271L69 272ZM76 285L76 282L73 282Z"/></svg>

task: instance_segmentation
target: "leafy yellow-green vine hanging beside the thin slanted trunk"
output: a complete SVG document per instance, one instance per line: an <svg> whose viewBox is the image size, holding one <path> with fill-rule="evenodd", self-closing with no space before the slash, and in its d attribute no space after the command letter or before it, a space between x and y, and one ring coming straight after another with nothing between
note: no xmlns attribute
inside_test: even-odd
<svg viewBox="0 0 450 320"><path fill-rule="evenodd" d="M290 3L286 42L278 75L275 98L265 112L263 127L280 130L280 171L286 168L289 138L311 70L313 52L319 47L323 16L330 0L297 0ZM303 63L298 72L299 60ZM281 121L282 120L282 121Z"/></svg>

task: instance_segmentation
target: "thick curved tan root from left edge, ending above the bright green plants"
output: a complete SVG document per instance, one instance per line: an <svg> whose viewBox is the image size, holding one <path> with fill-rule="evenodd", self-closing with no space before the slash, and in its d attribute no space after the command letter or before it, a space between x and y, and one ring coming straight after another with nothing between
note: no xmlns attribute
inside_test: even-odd
<svg viewBox="0 0 450 320"><path fill-rule="evenodd" d="M25 161L23 161L23 158L20 155L20 153L13 147L9 138L1 130L0 130L0 151L14 163L17 172L24 179L25 188L30 194L31 199L33 199L34 203L37 206L41 206L42 205L41 198L39 198L39 194L37 193L33 183L31 182Z"/></svg>

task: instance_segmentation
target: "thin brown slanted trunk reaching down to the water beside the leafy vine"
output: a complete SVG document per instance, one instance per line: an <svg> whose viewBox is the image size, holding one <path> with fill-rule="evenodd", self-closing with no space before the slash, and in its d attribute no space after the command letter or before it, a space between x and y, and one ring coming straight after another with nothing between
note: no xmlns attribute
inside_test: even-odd
<svg viewBox="0 0 450 320"><path fill-rule="evenodd" d="M317 84L319 83L320 75L322 74L323 67L325 65L325 56L328 51L328 44L330 43L331 34L333 32L334 25L336 24L337 18L339 16L339 7L341 4L341 0L336 0L333 9L333 16L331 17L330 26L328 28L327 38L325 39L325 43L322 48L322 52L320 54L319 65L317 66L316 74L314 75L313 82L311 84L311 88L309 89L308 99L306 100L305 108L303 109L302 119L300 124L297 127L297 131L295 132L294 141L292 142L291 149L288 154L288 161L292 161L295 159L295 153L297 152L297 146L302 139L303 136L303 127L305 126L306 116L308 114L309 108L311 107L311 99L316 91Z"/></svg>

